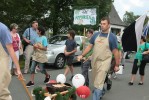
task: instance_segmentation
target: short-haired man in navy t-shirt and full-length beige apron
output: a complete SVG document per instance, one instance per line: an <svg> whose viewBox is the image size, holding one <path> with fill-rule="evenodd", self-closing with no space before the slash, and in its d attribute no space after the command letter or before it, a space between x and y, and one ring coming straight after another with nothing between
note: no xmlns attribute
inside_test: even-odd
<svg viewBox="0 0 149 100"><path fill-rule="evenodd" d="M84 50L82 55L78 56L81 60L91 48L92 54L92 76L93 76L93 100L100 100L103 94L104 81L110 68L112 53L114 54L116 65L115 71L119 70L119 53L117 49L117 38L110 33L110 20L107 17L101 19L101 32L94 33L90 40L90 44Z"/></svg>

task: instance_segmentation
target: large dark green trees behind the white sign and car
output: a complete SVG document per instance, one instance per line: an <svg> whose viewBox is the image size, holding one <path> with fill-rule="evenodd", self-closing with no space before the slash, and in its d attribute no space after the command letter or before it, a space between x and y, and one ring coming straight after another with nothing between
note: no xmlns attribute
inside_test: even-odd
<svg viewBox="0 0 149 100"><path fill-rule="evenodd" d="M22 31L29 27L33 20L37 20L39 25L52 29L56 35L65 33L65 30L73 25L74 6L96 5L99 7L99 18L101 18L108 15L112 2L112 0L1 0L0 19L7 26L17 23Z"/></svg>

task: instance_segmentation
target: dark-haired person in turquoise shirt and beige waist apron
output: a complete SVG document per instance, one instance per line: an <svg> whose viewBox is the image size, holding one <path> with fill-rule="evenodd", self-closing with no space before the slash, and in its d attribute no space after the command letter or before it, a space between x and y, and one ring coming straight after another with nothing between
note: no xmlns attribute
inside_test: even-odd
<svg viewBox="0 0 149 100"><path fill-rule="evenodd" d="M35 68L38 65L41 73L45 74L44 83L47 83L50 79L50 75L46 72L44 68L44 63L48 61L46 57L47 50L47 38L44 36L45 30L41 27L38 28L37 33L39 38L36 39L34 46L34 53L32 55L32 65L31 65L31 80L27 83L26 87L34 86L34 74Z"/></svg>

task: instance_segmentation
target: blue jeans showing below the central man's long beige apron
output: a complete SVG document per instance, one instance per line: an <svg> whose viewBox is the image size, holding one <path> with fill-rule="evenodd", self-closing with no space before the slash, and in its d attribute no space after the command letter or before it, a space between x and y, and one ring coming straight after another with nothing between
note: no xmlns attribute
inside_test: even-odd
<svg viewBox="0 0 149 100"><path fill-rule="evenodd" d="M105 89L103 90L100 89L94 89L93 91L93 100L101 100L102 96L105 94Z"/></svg>

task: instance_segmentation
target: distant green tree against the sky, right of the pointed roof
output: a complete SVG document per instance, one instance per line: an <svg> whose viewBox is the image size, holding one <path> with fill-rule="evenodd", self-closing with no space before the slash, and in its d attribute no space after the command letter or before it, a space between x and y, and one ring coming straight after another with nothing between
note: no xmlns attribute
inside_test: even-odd
<svg viewBox="0 0 149 100"><path fill-rule="evenodd" d="M126 11L123 16L123 21L126 23L126 25L129 25L133 23L138 17L139 15L134 15L133 12Z"/></svg>

